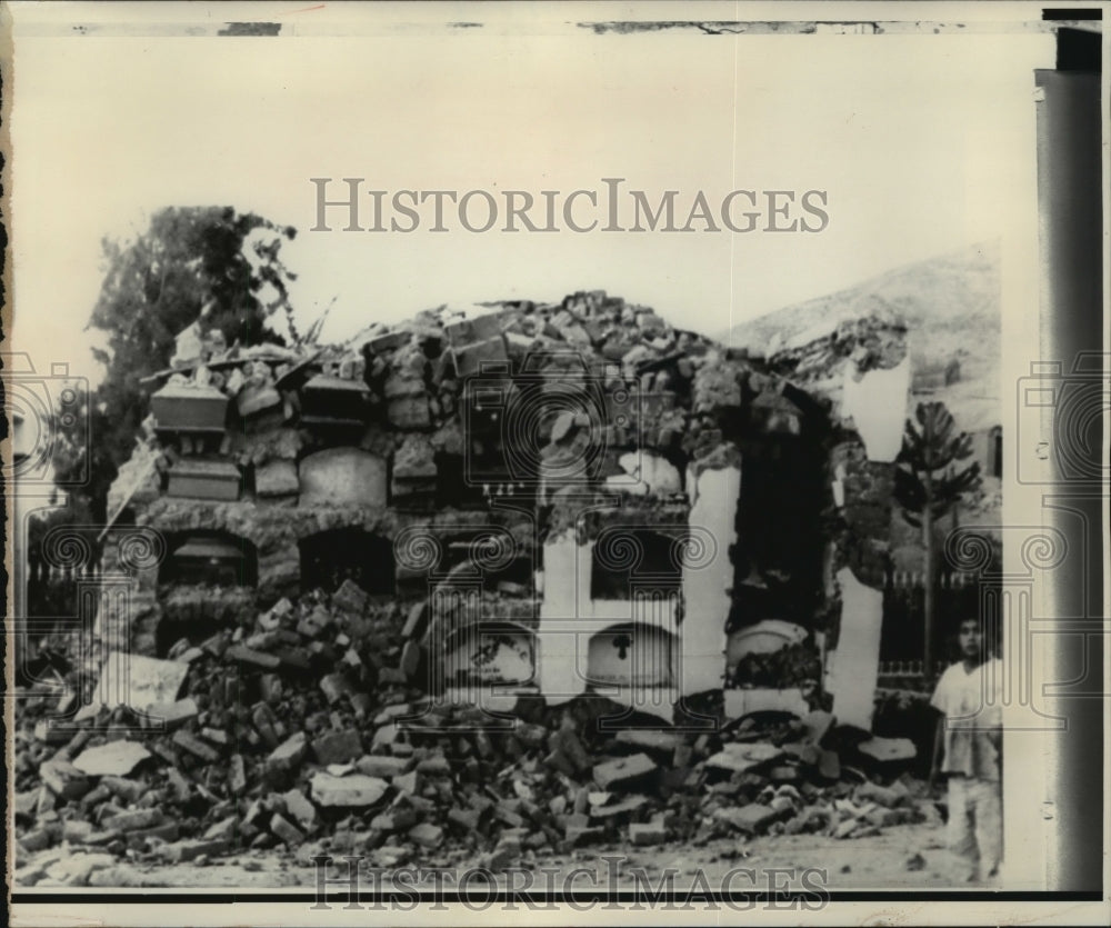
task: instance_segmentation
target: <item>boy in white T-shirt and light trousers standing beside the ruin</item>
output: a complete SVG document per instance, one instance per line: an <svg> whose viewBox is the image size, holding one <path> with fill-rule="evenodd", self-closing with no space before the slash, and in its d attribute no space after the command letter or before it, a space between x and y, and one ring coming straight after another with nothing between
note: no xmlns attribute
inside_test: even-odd
<svg viewBox="0 0 1111 928"><path fill-rule="evenodd" d="M961 660L938 681L931 705L942 712L931 782L949 779L949 844L965 881L995 876L1003 842L1002 661L989 659L978 618L958 632Z"/></svg>

